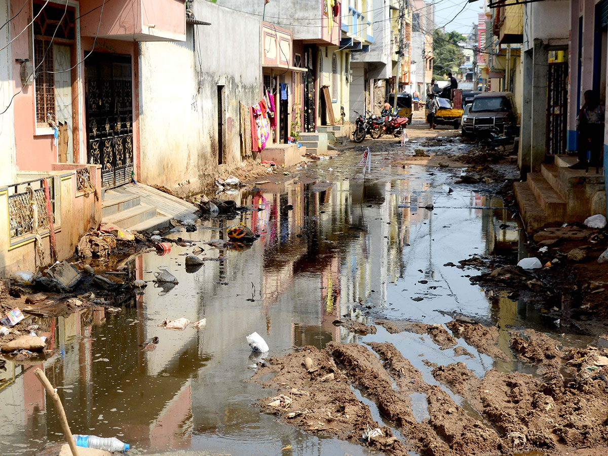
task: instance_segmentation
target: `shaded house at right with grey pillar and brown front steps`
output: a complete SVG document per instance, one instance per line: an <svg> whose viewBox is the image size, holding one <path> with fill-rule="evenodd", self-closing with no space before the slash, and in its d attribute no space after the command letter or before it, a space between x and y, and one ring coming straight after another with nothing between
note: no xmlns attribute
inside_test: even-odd
<svg viewBox="0 0 608 456"><path fill-rule="evenodd" d="M608 2L545 0L525 5L523 14L519 165L526 181L515 185L522 219L535 229L605 214L606 166L604 172L602 164L599 172L568 166L576 162L582 94L595 89L606 103Z"/></svg>

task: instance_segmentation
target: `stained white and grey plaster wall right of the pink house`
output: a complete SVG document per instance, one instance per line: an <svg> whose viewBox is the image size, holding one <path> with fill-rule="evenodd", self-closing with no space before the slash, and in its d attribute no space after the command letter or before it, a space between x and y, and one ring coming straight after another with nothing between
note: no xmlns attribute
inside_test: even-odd
<svg viewBox="0 0 608 456"><path fill-rule="evenodd" d="M224 85L229 166L241 163L239 103L253 105L261 95L260 18L206 1L194 8L212 25L188 25L182 43L139 48L141 180L180 195L197 192L216 173L217 86Z"/></svg>

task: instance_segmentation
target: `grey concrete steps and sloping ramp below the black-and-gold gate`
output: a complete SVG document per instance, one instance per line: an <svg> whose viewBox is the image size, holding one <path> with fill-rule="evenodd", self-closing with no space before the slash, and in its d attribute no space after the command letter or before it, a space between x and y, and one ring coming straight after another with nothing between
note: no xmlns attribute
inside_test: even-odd
<svg viewBox="0 0 608 456"><path fill-rule="evenodd" d="M144 184L127 184L105 190L102 221L121 228L148 232L168 227L172 218L196 219L198 208Z"/></svg>

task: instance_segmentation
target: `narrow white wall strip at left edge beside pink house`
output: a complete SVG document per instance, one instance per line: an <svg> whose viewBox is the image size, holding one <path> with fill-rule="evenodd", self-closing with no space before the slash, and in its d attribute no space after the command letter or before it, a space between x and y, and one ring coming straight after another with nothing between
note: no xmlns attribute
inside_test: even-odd
<svg viewBox="0 0 608 456"><path fill-rule="evenodd" d="M0 24L9 18L9 2L0 1ZM0 49L9 42L11 27L0 30ZM10 46L0 51L0 112L9 106L13 96L10 83ZM11 184L15 178L15 136L13 106L0 115L0 186Z"/></svg>

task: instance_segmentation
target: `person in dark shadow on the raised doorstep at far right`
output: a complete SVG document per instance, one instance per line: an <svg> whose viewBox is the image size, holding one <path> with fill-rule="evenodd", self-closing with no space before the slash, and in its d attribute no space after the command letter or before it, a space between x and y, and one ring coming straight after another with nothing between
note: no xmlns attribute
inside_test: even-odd
<svg viewBox="0 0 608 456"><path fill-rule="evenodd" d="M599 159L604 148L604 106L594 90L584 93L584 104L576 117L578 130L578 162L571 165L573 170L586 170L589 162L599 171Z"/></svg>

